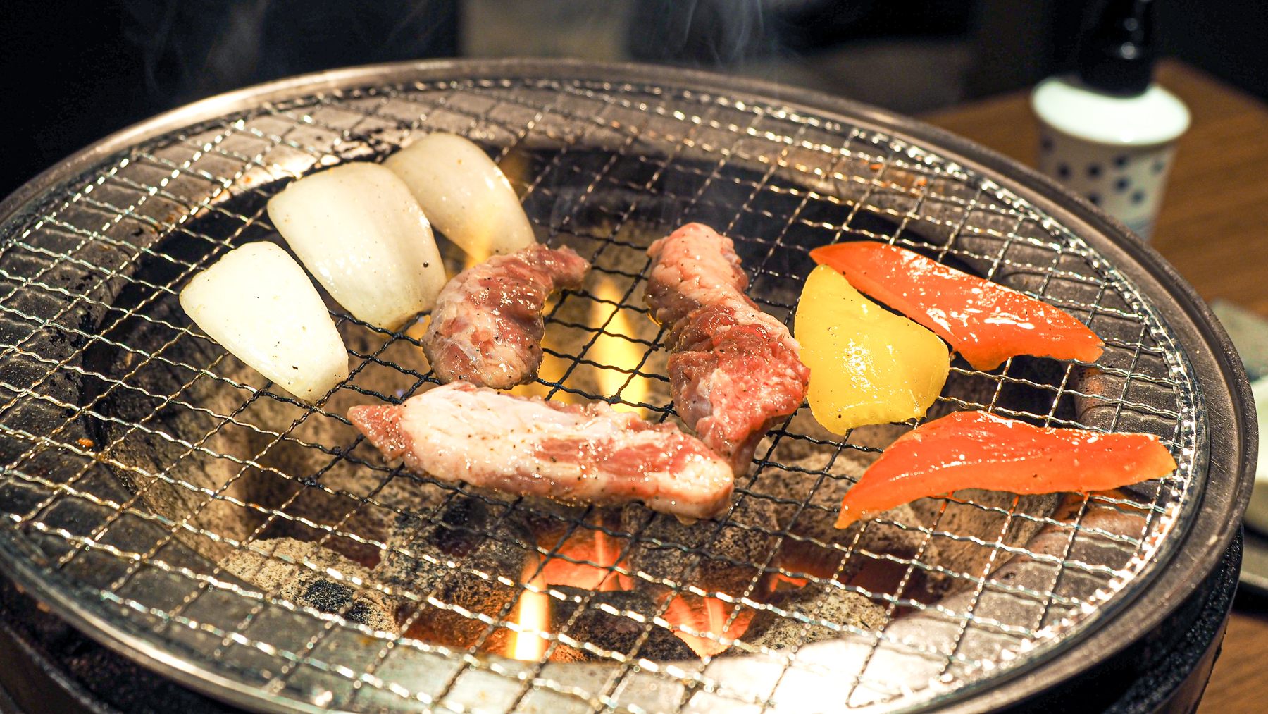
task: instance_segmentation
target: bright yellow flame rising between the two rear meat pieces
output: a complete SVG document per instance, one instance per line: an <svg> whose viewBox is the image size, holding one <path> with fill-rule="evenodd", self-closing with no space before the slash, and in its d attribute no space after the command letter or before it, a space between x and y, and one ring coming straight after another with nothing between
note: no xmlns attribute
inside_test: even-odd
<svg viewBox="0 0 1268 714"><path fill-rule="evenodd" d="M639 363L643 360L643 347L638 342L625 339L635 337L638 332L635 332L626 311L618 307L621 303L624 292L616 287L616 283L611 278L602 276L595 287L593 293L595 297L602 301L616 303L609 304L607 302L596 301L590 306L590 325L595 328L602 327L604 331L595 340L590 350L587 350L586 356L611 368L596 370L598 393L606 397L614 397L620 393L621 402L644 402L648 394L647 380L637 374L630 374L630 372L638 369ZM625 383L626 380L629 380L629 384ZM642 415L643 410L640 407L633 407L621 402L612 402L612 408Z"/></svg>

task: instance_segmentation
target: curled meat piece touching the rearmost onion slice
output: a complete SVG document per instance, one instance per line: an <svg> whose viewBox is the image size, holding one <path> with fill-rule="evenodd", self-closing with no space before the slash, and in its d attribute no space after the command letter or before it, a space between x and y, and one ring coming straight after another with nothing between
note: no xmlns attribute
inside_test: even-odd
<svg viewBox="0 0 1268 714"><path fill-rule="evenodd" d="M577 288L590 263L569 247L531 245L454 276L436 298L422 349L441 382L506 389L541 364L541 309L559 288Z"/></svg>

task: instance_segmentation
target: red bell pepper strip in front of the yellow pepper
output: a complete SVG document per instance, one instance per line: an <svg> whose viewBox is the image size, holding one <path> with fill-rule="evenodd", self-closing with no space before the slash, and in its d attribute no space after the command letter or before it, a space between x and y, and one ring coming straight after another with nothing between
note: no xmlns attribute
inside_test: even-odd
<svg viewBox="0 0 1268 714"><path fill-rule="evenodd" d="M837 528L960 488L1104 491L1173 471L1175 459L1153 434L1047 429L952 412L894 440L846 492Z"/></svg>

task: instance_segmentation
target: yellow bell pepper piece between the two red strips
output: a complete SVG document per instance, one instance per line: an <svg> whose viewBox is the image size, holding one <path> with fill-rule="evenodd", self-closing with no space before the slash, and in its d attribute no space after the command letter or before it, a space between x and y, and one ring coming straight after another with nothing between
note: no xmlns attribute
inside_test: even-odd
<svg viewBox="0 0 1268 714"><path fill-rule="evenodd" d="M942 340L827 265L806 278L794 330L810 368L810 412L833 434L922 416L947 380Z"/></svg>

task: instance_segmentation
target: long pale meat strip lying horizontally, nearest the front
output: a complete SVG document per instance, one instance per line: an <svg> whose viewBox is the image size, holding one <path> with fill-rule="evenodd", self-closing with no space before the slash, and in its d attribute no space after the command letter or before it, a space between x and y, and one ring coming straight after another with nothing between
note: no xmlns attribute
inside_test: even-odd
<svg viewBox="0 0 1268 714"><path fill-rule="evenodd" d="M444 481L566 502L643 501L686 519L730 502L732 473L700 440L600 402L563 405L454 382L347 417L388 459Z"/></svg>

